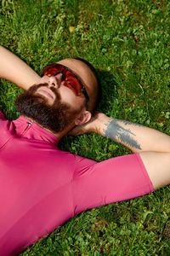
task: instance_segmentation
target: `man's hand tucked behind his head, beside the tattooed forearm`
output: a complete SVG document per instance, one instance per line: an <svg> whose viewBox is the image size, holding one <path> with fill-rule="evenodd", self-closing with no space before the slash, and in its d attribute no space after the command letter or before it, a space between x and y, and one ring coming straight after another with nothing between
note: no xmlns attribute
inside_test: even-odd
<svg viewBox="0 0 170 256"><path fill-rule="evenodd" d="M105 122L108 122L108 117L105 113L95 112L88 123L75 126L69 131L68 135L79 135L87 132L96 132L103 135L102 130L104 129Z"/></svg>

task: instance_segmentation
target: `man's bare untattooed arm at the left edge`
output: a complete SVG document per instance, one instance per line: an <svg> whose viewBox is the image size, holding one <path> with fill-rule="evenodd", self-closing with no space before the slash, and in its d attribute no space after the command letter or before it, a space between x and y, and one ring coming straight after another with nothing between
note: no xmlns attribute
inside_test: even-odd
<svg viewBox="0 0 170 256"><path fill-rule="evenodd" d="M19 57L0 46L0 78L28 90L31 85L37 84L40 77Z"/></svg>

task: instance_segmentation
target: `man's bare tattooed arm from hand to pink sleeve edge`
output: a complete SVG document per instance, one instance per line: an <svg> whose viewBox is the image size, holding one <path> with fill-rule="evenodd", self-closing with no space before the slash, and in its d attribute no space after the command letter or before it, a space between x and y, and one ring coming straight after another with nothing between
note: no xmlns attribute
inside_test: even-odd
<svg viewBox="0 0 170 256"><path fill-rule="evenodd" d="M154 189L170 183L170 137L161 131L96 113L85 125L77 126L70 134L89 131L111 138L116 143L139 153Z"/></svg>

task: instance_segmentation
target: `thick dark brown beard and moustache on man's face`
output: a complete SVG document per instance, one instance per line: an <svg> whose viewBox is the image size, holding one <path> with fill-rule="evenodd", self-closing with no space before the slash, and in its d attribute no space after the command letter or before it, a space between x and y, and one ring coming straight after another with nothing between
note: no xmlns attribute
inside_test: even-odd
<svg viewBox="0 0 170 256"><path fill-rule="evenodd" d="M56 98L52 106L48 105L48 99L45 96L35 96L34 93L39 87L48 86L48 84L32 85L29 90L21 93L15 100L17 111L37 122L38 125L52 131L61 132L71 125L71 122L77 117L82 109L72 110L71 106L60 102L60 96L54 87Z"/></svg>

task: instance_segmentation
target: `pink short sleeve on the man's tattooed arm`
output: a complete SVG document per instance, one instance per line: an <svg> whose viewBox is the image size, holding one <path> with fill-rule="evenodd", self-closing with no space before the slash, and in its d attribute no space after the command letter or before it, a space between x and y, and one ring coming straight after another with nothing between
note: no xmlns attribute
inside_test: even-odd
<svg viewBox="0 0 170 256"><path fill-rule="evenodd" d="M117 201L126 201L153 191L139 154L102 162L77 157L73 183L75 213Z"/></svg>

